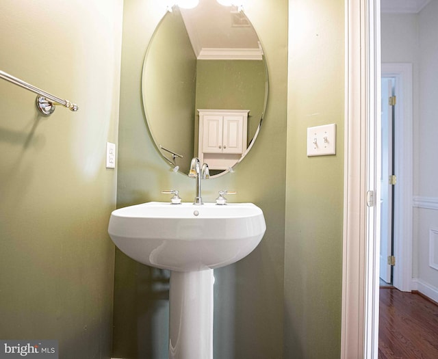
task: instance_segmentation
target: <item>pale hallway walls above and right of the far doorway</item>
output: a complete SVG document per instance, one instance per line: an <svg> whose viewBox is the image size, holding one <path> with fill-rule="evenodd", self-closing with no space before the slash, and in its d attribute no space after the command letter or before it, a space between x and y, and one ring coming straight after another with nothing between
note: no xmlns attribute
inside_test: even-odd
<svg viewBox="0 0 438 359"><path fill-rule="evenodd" d="M430 237L438 251L438 1L420 14L382 14L382 62L413 64L413 287L438 300ZM427 208L426 208L427 207ZM435 254L438 263L438 254ZM438 266L438 265L437 265Z"/></svg>

